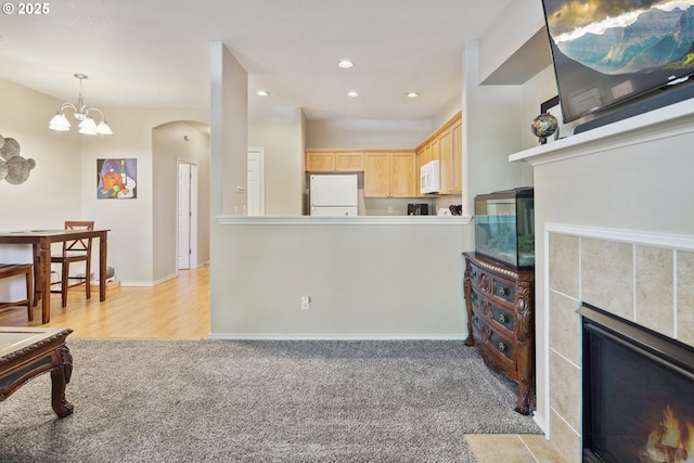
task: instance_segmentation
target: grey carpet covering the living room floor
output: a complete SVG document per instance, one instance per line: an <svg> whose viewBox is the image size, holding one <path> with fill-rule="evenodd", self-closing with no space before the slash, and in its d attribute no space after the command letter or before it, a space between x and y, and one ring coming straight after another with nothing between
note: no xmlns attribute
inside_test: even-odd
<svg viewBox="0 0 694 463"><path fill-rule="evenodd" d="M536 434L462 342L94 340L0 403L2 462L474 462L464 434Z"/></svg>

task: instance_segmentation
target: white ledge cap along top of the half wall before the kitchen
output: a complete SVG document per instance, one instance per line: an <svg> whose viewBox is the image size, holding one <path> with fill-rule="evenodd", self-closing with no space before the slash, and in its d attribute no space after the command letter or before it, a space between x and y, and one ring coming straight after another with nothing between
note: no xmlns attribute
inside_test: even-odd
<svg viewBox="0 0 694 463"><path fill-rule="evenodd" d="M222 226L467 226L470 216L243 217L217 216Z"/></svg>

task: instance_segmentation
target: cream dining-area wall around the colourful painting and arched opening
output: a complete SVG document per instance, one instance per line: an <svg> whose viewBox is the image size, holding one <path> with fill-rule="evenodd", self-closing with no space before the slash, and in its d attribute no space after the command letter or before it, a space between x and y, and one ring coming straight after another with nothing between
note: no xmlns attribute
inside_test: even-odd
<svg viewBox="0 0 694 463"><path fill-rule="evenodd" d="M60 229L65 220L94 220L98 228L111 230L108 265L123 284L153 284L153 182L158 169L152 129L172 120L207 123L207 108L103 107L114 134L85 137L74 128L48 129L60 100L2 79L0 98L0 134L15 138L21 154L36 160L25 183L0 182L0 228ZM111 157L138 159L137 198L97 198L97 159Z"/></svg>

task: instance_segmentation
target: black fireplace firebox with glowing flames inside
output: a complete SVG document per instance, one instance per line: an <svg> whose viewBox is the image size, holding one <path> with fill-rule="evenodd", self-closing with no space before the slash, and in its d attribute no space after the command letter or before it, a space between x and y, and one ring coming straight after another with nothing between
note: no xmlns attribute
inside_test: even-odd
<svg viewBox="0 0 694 463"><path fill-rule="evenodd" d="M694 348L583 304L589 463L694 462Z"/></svg>

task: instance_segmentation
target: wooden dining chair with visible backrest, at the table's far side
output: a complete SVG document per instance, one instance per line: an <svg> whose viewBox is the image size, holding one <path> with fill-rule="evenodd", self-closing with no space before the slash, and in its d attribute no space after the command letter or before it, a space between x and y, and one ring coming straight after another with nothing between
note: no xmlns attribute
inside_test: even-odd
<svg viewBox="0 0 694 463"><path fill-rule="evenodd" d="M93 221L66 220L65 230L93 230ZM91 237L81 237L63 242L62 253L51 256L51 263L60 263L61 272L59 281L51 281L51 287L60 284L60 290L51 290L51 293L61 293L63 307L67 306L67 290L80 284L85 285L87 298L91 297ZM69 266L76 262L85 262L85 273L70 275Z"/></svg>

